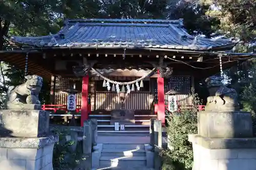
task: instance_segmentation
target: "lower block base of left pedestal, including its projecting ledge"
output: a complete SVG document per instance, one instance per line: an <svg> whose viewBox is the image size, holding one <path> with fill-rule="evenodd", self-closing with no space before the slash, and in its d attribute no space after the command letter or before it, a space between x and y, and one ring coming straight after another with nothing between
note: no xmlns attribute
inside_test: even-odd
<svg viewBox="0 0 256 170"><path fill-rule="evenodd" d="M57 137L0 138L1 170L53 170L52 156Z"/></svg>

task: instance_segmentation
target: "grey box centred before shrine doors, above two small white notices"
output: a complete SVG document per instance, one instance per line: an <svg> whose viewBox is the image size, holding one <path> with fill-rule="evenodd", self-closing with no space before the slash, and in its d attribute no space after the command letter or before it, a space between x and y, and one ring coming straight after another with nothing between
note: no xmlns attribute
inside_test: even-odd
<svg viewBox="0 0 256 170"><path fill-rule="evenodd" d="M115 125L118 122L119 125L134 125L135 116L134 110L119 109L111 112L110 124Z"/></svg>

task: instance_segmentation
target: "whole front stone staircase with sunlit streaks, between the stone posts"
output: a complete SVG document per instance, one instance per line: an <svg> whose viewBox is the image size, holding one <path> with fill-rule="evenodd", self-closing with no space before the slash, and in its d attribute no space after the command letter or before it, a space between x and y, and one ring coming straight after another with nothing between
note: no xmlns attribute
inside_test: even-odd
<svg viewBox="0 0 256 170"><path fill-rule="evenodd" d="M103 143L97 169L151 170L145 144ZM153 157L152 157L153 158Z"/></svg>

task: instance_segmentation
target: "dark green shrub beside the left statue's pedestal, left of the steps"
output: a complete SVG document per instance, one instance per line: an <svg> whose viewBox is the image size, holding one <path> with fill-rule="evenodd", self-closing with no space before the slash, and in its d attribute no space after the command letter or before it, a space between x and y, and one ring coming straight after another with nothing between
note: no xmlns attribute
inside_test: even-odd
<svg viewBox="0 0 256 170"><path fill-rule="evenodd" d="M73 140L67 141L66 136L69 131L59 131L55 129L54 133L59 136L59 142L55 143L53 149L53 168L54 170L75 169L82 160L82 145L77 143L76 150L71 149Z"/></svg>

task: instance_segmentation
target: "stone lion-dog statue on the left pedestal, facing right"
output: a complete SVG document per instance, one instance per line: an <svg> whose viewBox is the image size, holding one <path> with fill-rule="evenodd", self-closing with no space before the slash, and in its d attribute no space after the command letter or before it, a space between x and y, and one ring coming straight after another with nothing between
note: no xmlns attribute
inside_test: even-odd
<svg viewBox="0 0 256 170"><path fill-rule="evenodd" d="M38 94L42 87L40 76L26 76L25 83L17 85L8 92L7 109L40 109ZM36 106L36 108L35 108Z"/></svg>

